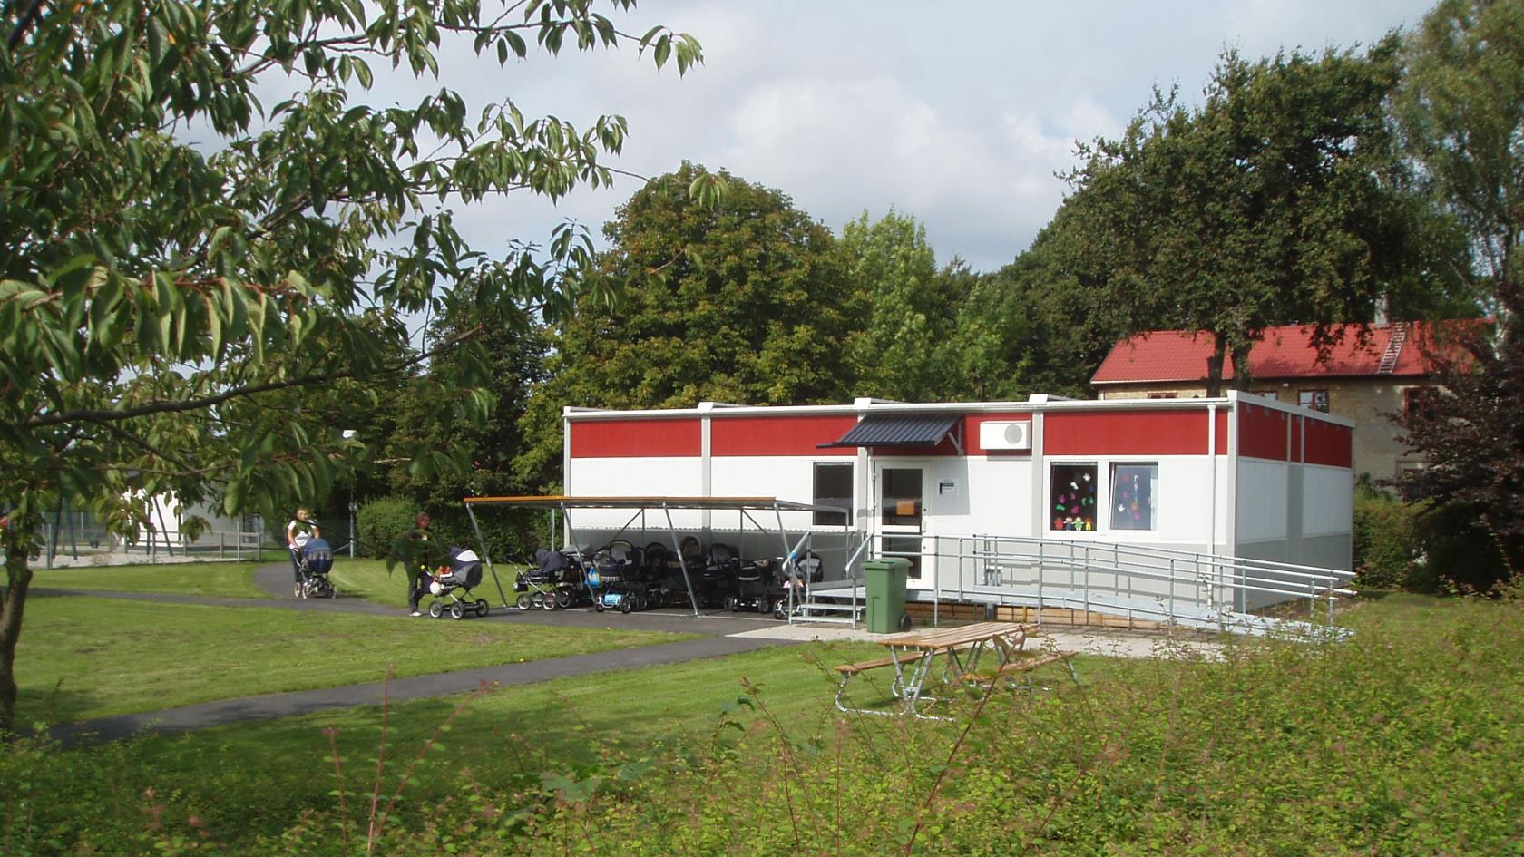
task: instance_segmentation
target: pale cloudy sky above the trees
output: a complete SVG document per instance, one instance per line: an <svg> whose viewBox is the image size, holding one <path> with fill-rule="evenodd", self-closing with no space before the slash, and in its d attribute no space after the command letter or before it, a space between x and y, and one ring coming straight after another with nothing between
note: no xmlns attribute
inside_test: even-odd
<svg viewBox="0 0 1524 857"><path fill-rule="evenodd" d="M1024 250L1064 195L1056 171L1074 142L1116 136L1155 85L1199 99L1224 47L1369 44L1416 24L1430 0L1094 2L646 0L616 18L698 37L704 64L678 78L634 50L500 69L447 56L443 84L474 101L511 98L529 116L578 127L629 120L614 165L658 175L683 160L788 194L834 230L890 207L927 226L939 262L992 270ZM408 101L430 82L378 99ZM407 91L416 90L416 91ZM460 210L483 249L544 241L565 218L596 233L639 186L578 192L552 206L527 195Z"/></svg>

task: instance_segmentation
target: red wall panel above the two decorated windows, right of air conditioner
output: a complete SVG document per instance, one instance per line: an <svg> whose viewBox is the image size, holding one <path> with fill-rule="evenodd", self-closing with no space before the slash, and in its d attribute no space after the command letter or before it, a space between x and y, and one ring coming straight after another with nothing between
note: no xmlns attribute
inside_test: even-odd
<svg viewBox="0 0 1524 857"><path fill-rule="evenodd" d="M1050 456L1204 456L1207 410L1049 412L1042 453Z"/></svg>

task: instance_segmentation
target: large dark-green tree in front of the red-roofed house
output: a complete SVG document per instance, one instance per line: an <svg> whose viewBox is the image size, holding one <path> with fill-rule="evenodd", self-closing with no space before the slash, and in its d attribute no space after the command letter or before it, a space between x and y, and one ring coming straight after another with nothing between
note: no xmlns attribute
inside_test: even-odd
<svg viewBox="0 0 1524 857"><path fill-rule="evenodd" d="M1207 331L1216 395L1266 326L1367 320L1379 300L1417 314L1449 281L1443 224L1410 188L1385 101L1398 40L1248 63L1224 55L1205 104L1155 93L1119 140L1082 148L1061 268L1117 337ZM1436 258L1437 256L1437 258Z"/></svg>

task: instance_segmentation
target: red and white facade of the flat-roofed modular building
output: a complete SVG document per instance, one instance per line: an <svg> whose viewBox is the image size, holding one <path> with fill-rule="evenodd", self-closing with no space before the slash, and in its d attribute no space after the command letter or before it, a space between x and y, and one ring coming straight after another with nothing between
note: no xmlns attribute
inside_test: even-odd
<svg viewBox="0 0 1524 857"><path fill-rule="evenodd" d="M948 422L934 442L831 445L864 419L893 435L896 419L927 416ZM846 523L882 537L885 550L916 550L927 537L1012 535L1347 570L1352 428L1347 419L1237 392L1199 400L1035 395L1021 403L565 409L564 474L565 494L582 497L840 505L850 509ZM672 514L680 529L745 529L727 512ZM579 512L584 532L628 525L628 512ZM811 512L785 512L782 526L843 531L841 520L817 522ZM911 586L931 589L936 564L928 547Z"/></svg>

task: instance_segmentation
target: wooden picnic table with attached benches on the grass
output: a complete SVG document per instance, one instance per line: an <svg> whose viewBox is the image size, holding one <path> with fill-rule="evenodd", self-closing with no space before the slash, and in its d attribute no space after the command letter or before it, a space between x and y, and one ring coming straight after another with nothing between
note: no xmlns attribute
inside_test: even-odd
<svg viewBox="0 0 1524 857"><path fill-rule="evenodd" d="M939 665L943 682L977 674L980 660L986 657L998 660L995 674L1000 674L1015 663L1026 642L1027 627L1018 622L975 622L884 637L879 644L888 650L888 657L837 666L837 672L841 672L837 708L860 714L893 714L892 711L846 708L841 701L847 683L855 676L892 666L895 679L888 689L904 703L904 711L920 718L940 720L920 712L922 705L936 701L936 697L927 695L924 689L927 679Z"/></svg>

